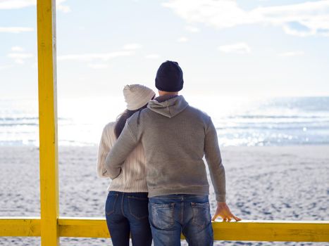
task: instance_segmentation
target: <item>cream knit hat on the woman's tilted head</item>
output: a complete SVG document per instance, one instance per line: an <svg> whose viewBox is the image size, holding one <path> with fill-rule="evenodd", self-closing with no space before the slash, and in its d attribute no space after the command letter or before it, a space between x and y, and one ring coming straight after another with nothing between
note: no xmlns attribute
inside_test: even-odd
<svg viewBox="0 0 329 246"><path fill-rule="evenodd" d="M154 91L142 84L128 84L123 88L123 96L128 110L142 108L156 95Z"/></svg>

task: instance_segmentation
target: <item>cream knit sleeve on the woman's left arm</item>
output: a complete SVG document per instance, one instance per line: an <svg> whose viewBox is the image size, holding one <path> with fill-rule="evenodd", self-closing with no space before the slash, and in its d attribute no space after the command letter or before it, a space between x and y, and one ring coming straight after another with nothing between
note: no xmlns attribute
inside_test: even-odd
<svg viewBox="0 0 329 246"><path fill-rule="evenodd" d="M101 141L99 142L99 150L97 155L97 176L100 178L109 178L108 172L105 168L105 158L111 149L111 139L108 135L108 125L106 125L101 134Z"/></svg>

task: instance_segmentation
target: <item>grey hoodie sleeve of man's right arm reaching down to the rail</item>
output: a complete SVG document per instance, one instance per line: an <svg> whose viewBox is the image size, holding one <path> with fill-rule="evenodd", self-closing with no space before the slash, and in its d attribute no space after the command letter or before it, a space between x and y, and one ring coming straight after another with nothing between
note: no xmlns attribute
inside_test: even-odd
<svg viewBox="0 0 329 246"><path fill-rule="evenodd" d="M225 169L222 163L221 150L219 150L216 128L210 117L204 140L204 156L209 166L216 200L218 202L225 202Z"/></svg>

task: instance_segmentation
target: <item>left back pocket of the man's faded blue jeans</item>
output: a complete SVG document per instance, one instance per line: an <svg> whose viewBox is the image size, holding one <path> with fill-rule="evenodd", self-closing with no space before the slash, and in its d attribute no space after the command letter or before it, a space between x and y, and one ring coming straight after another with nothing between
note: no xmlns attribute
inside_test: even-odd
<svg viewBox="0 0 329 246"><path fill-rule="evenodd" d="M166 230L173 227L175 203L150 203L152 212L151 223L161 230Z"/></svg>

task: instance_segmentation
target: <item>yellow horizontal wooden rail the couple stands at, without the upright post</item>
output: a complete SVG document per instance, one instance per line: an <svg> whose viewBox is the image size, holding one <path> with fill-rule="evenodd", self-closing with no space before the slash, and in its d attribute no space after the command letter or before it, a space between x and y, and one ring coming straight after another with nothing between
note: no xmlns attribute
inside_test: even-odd
<svg viewBox="0 0 329 246"><path fill-rule="evenodd" d="M58 219L59 236L108 238L103 218ZM213 222L215 240L328 242L329 221ZM40 236L38 217L0 217L0 236Z"/></svg>

